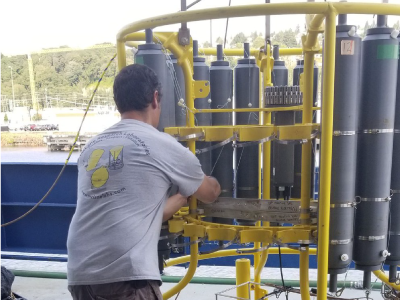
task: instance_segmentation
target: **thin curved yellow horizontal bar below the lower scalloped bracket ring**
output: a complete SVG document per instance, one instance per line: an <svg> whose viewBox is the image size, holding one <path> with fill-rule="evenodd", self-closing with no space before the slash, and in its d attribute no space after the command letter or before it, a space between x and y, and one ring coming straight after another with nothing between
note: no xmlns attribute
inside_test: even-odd
<svg viewBox="0 0 400 300"><path fill-rule="evenodd" d="M245 248L242 250L249 251L251 249ZM269 248L268 254L279 254L278 248ZM281 254L299 254L299 251L294 250L294 249L289 249L289 248L281 248ZM310 255L316 255L317 254L317 249L311 248L310 249ZM237 253L236 249L231 249L231 250L221 250L217 251L214 253L210 254L200 254L199 255L199 260L202 259L210 259L210 258L217 258L217 257L227 257L227 256L239 256L239 255L249 255L248 253ZM165 267L171 267L175 265L180 265L187 263L190 260L190 255L186 256L181 256L173 259L169 259L165 262Z"/></svg>

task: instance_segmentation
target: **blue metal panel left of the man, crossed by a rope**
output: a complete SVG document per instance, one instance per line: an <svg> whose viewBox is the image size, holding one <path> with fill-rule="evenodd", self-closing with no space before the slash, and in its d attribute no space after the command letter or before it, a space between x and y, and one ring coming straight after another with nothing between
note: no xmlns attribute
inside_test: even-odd
<svg viewBox="0 0 400 300"><path fill-rule="evenodd" d="M53 184L62 164L0 164L2 222L28 211ZM66 167L41 206L24 219L1 229L0 250L66 253L69 224L75 212L77 166Z"/></svg>

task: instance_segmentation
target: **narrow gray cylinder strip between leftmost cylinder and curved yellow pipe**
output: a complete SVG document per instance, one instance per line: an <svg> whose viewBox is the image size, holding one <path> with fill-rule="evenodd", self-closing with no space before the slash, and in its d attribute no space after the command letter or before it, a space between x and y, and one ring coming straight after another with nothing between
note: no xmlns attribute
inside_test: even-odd
<svg viewBox="0 0 400 300"><path fill-rule="evenodd" d="M178 61L175 55L171 54L171 63L173 65L173 69L168 69L169 71L173 70L173 73L170 72L170 75L174 81L174 105L175 105L175 126L186 126L186 108L182 104L180 104L181 99L185 99L185 77L183 76L182 68L178 65ZM168 64L167 60L167 64Z"/></svg>

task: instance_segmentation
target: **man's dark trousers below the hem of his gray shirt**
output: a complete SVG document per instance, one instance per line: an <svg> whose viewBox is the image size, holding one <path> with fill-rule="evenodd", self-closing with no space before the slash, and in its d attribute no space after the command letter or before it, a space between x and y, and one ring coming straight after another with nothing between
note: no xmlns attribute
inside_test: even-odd
<svg viewBox="0 0 400 300"><path fill-rule="evenodd" d="M94 285L70 285L73 300L162 300L159 282L132 280Z"/></svg>

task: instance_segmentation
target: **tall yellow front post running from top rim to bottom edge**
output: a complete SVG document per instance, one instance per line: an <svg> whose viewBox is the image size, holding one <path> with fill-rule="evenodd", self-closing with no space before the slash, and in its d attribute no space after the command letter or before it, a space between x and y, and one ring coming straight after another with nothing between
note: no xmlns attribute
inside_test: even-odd
<svg viewBox="0 0 400 300"><path fill-rule="evenodd" d="M329 4L325 23L324 70L321 119L321 179L318 220L318 295L327 299L329 218L331 201L333 99L335 85L336 12Z"/></svg>

